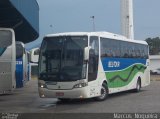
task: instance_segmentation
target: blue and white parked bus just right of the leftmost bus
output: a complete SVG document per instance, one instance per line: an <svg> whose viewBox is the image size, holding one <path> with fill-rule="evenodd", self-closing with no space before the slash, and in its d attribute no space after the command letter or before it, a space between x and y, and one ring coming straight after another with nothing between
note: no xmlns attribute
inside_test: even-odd
<svg viewBox="0 0 160 119"><path fill-rule="evenodd" d="M28 81L28 54L22 42L16 42L16 87L21 88Z"/></svg>

